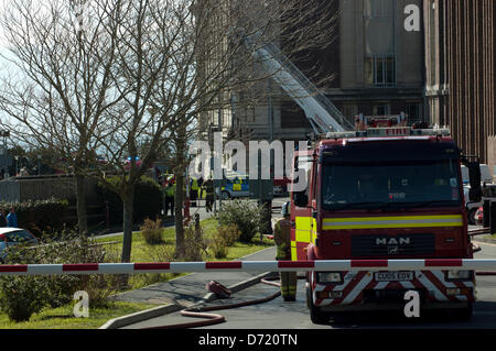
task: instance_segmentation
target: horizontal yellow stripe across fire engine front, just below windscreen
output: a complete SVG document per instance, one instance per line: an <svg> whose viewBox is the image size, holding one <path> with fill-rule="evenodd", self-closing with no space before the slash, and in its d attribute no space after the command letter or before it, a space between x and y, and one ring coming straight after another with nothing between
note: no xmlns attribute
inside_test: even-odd
<svg viewBox="0 0 496 351"><path fill-rule="evenodd" d="M425 228L425 227L462 227L461 215L445 216L398 216L398 217L359 217L326 218L323 229L373 229L373 228Z"/></svg>

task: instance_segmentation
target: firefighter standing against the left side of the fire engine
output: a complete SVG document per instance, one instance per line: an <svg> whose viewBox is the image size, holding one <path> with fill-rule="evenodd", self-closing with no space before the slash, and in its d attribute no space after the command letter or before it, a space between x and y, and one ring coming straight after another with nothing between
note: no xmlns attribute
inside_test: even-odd
<svg viewBox="0 0 496 351"><path fill-rule="evenodd" d="M290 202L282 205L283 218L278 220L273 230L273 240L276 241L278 261L291 260L291 220L289 211ZM296 300L296 272L281 272L281 295L284 301Z"/></svg>

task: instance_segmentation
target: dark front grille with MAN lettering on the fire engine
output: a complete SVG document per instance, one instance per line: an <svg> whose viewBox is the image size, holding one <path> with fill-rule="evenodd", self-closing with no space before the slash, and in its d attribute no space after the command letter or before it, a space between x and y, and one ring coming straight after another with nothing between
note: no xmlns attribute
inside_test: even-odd
<svg viewBox="0 0 496 351"><path fill-rule="evenodd" d="M353 256L430 255L434 253L434 234L354 235Z"/></svg>

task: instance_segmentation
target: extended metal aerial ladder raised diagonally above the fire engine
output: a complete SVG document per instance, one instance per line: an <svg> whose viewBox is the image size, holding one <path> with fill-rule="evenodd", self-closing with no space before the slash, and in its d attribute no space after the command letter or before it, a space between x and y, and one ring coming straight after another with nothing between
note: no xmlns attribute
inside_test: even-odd
<svg viewBox="0 0 496 351"><path fill-rule="evenodd" d="M251 46L251 39L245 37ZM315 134L353 131L354 125L272 43L254 48L271 78L303 109Z"/></svg>

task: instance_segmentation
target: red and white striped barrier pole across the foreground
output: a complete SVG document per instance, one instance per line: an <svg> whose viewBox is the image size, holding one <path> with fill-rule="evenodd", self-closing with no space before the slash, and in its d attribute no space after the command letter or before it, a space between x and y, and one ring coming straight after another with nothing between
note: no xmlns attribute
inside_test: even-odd
<svg viewBox="0 0 496 351"><path fill-rule="evenodd" d="M319 260L319 261L229 261L162 263L86 263L0 265L0 275L137 274L194 272L328 272L328 271L496 271L496 259L427 260Z"/></svg>

